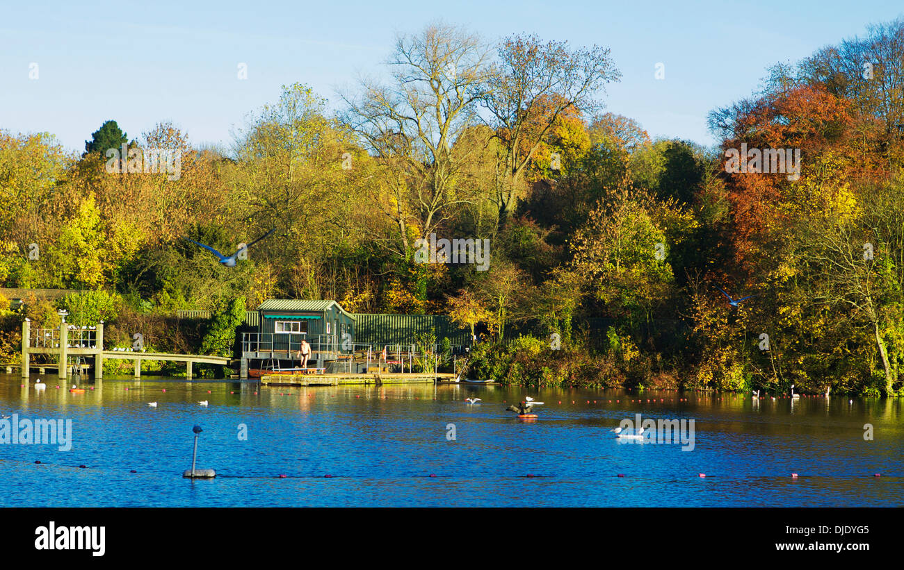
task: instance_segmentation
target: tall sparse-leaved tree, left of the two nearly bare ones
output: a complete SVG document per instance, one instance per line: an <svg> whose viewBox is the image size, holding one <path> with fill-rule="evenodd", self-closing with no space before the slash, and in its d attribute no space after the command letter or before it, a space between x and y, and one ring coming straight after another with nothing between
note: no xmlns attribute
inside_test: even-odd
<svg viewBox="0 0 904 570"><path fill-rule="evenodd" d="M454 206L471 201L458 179L477 147L453 152L453 145L476 124L485 59L475 34L432 24L396 40L390 84L365 79L360 93L343 96L345 123L387 169L381 211L397 228L394 252L401 257L449 219Z"/></svg>

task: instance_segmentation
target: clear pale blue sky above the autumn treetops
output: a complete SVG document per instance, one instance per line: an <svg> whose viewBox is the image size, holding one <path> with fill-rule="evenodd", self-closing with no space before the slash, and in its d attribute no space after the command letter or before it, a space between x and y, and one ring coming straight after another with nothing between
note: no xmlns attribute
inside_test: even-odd
<svg viewBox="0 0 904 570"><path fill-rule="evenodd" d="M531 32L607 46L623 75L607 110L710 144L706 115L749 96L769 66L904 15L900 0L10 3L0 0L0 129L46 131L78 151L107 119L129 138L171 120L194 144L229 145L295 82L336 106L337 88L384 72L396 32L438 19L492 41Z"/></svg>

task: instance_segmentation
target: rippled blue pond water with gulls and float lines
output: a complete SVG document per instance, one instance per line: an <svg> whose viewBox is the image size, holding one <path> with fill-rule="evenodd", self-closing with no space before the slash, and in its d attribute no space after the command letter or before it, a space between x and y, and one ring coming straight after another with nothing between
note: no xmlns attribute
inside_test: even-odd
<svg viewBox="0 0 904 570"><path fill-rule="evenodd" d="M0 374L0 411L71 419L71 450L0 445L3 507L904 505L899 400L150 378L78 394L34 379ZM525 395L546 402L536 420L504 411ZM607 431L637 413L693 419L693 450ZM195 424L213 480L182 477Z"/></svg>

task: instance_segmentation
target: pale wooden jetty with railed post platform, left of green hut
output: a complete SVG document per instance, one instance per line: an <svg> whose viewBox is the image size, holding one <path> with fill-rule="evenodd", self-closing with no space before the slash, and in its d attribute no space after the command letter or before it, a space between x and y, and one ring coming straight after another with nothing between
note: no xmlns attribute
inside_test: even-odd
<svg viewBox="0 0 904 570"><path fill-rule="evenodd" d="M56 364L30 363L32 354L52 354L57 357ZM76 356L90 360L94 366L94 377L103 378L104 360L131 360L134 365L134 377L141 377L141 363L146 360L185 363L185 377L192 378L193 363L228 365L230 359L225 356L208 356L204 354L165 354L137 351L104 350L104 324L97 326L71 326L63 321L57 328L38 328L32 330L31 322L26 318L22 324L22 363L18 368L22 377L28 378L31 368L57 368L61 380L65 380L71 365L69 358ZM85 370L87 364L76 364Z"/></svg>

